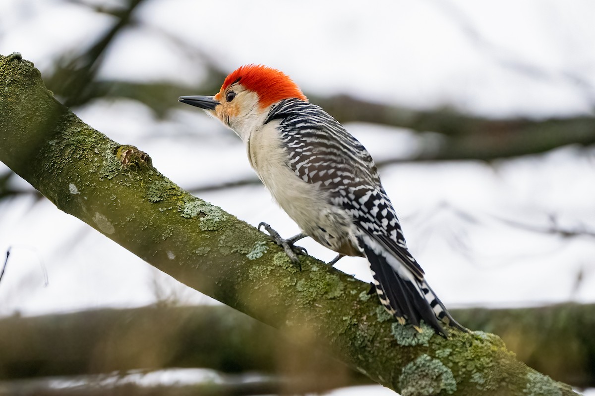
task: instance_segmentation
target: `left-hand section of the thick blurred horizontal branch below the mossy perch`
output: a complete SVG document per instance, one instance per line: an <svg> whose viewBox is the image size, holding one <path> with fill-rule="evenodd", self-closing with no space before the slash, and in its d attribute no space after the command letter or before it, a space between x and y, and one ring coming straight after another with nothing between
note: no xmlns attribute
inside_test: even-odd
<svg viewBox="0 0 595 396"><path fill-rule="evenodd" d="M0 320L0 379L164 368L274 374L294 384L285 389L292 394L371 383L227 306L156 305ZM304 378L308 382L299 381Z"/></svg>

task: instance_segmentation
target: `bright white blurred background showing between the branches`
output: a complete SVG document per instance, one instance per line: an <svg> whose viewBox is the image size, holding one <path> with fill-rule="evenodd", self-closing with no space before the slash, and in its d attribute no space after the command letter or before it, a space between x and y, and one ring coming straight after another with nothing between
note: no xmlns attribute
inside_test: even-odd
<svg viewBox="0 0 595 396"><path fill-rule="evenodd" d="M165 31L227 71L253 62L274 66L320 96L347 93L417 109L448 105L496 117L592 114L593 15L594 2L576 0L301 1L297 7L152 0L137 10L142 23L121 34L99 74L201 82L204 66ZM59 55L88 46L112 23L71 2L3 0L0 53L21 52L43 74ZM95 100L76 113L113 140L149 153L183 188L253 177L239 139L193 107L179 104L159 120L137 102ZM405 129L346 127L377 160L407 157L419 147L418 135ZM595 230L593 148L562 147L491 164L396 164L383 167L381 177L411 251L447 306L595 301L593 237L562 239L506 223L547 229L553 215L560 227ZM13 183L28 188L23 180ZM248 223L267 221L281 235L298 232L262 186L201 198ZM333 257L311 240L302 245L321 259ZM184 303L211 302L33 195L0 201L0 252L9 246L0 315L140 306L172 294ZM342 259L337 268L370 279L362 259Z"/></svg>

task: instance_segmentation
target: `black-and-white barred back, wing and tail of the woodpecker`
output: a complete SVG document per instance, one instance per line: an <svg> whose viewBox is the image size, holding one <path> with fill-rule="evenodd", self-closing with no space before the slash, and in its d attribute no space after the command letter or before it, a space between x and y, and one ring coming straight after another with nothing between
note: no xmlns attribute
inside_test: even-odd
<svg viewBox="0 0 595 396"><path fill-rule="evenodd" d="M421 319L444 335L442 324L466 331L450 316L409 253L399 219L364 146L321 107L299 99L281 100L265 124L279 120L287 166L320 185L330 204L349 213L358 249L367 257L384 308L401 323Z"/></svg>

